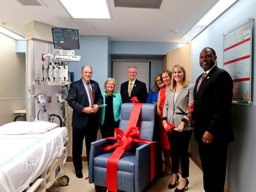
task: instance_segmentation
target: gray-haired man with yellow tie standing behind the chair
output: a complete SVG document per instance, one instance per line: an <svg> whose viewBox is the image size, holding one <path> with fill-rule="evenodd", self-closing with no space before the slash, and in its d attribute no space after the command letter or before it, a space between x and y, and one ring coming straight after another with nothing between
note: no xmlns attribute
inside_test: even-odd
<svg viewBox="0 0 256 192"><path fill-rule="evenodd" d="M121 84L122 102L131 102L132 97L137 97L140 103L146 102L146 84L136 79L137 68L133 66L129 67L127 74L129 81Z"/></svg>

